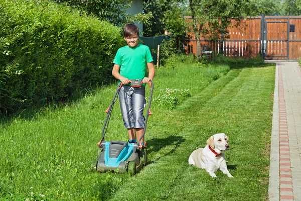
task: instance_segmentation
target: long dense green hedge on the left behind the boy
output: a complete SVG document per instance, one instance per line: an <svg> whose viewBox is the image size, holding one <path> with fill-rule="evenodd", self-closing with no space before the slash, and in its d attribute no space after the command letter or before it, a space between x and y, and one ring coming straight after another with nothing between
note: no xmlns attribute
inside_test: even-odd
<svg viewBox="0 0 301 201"><path fill-rule="evenodd" d="M109 82L123 44L119 28L79 11L46 0L0 0L1 113Z"/></svg>

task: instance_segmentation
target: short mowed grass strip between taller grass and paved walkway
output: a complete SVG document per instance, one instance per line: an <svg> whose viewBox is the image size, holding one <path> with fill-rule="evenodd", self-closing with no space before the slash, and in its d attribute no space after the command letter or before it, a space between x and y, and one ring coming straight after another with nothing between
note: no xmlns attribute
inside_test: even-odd
<svg viewBox="0 0 301 201"><path fill-rule="evenodd" d="M165 142L167 146L156 155L151 152L154 162L124 183L112 200L244 200L246 196L259 200L266 196L268 158L264 153L271 128L274 68L244 68L236 77L240 71L231 70L168 117L167 128L176 120L182 122L176 125L182 129L169 133L171 144ZM203 93L214 95L208 99ZM189 114L184 115L185 111ZM234 179L221 172L212 179L205 170L188 165L190 153L218 132L230 137L226 157Z"/></svg>

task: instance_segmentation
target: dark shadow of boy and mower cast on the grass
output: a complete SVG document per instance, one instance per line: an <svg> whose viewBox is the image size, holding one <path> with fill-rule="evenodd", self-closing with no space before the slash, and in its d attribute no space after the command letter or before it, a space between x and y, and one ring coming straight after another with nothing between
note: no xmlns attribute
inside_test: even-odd
<svg viewBox="0 0 301 201"><path fill-rule="evenodd" d="M147 163L148 164L153 163L162 157L172 154L177 149L177 147L184 141L185 141L185 139L182 136L169 136L167 138L153 138L153 139L147 140L147 144L152 145L147 148L147 154L152 153L152 152L158 152L158 151L160 151L160 149L162 149L164 147L174 145L174 147L172 149L170 149L170 151L168 153L156 158L154 161L148 160Z"/></svg>

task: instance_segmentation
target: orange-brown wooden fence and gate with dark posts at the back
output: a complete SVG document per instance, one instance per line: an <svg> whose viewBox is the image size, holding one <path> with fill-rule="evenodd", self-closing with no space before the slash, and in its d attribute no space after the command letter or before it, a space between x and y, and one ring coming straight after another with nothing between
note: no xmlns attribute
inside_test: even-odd
<svg viewBox="0 0 301 201"><path fill-rule="evenodd" d="M232 20L235 24L235 20ZM266 60L298 60L301 57L301 17L264 16L244 20L241 27L228 29L229 38L211 41L200 38L202 46L209 47L214 54L228 57ZM186 53L196 53L194 35L190 35L184 47Z"/></svg>

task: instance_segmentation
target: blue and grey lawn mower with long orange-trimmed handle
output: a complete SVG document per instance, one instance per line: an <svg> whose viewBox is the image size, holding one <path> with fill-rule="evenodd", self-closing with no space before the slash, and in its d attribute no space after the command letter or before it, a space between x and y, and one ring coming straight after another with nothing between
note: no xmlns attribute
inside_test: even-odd
<svg viewBox="0 0 301 201"><path fill-rule="evenodd" d="M132 87L140 87L143 84L142 79L133 79L130 80L130 83ZM102 128L102 139L98 143L100 154L98 154L97 158L96 171L114 171L119 173L128 172L128 174L132 176L136 174L136 171L139 171L147 164L146 142L144 142L144 146L139 145L139 142L144 137L148 115L152 115L150 112L150 103L152 100L154 84L152 81L149 81L148 84L150 88L150 95L144 121L143 134L140 139L137 139L138 141L134 143L129 143L127 141L105 142L104 137L109 125L113 106L118 99L118 93L122 87L122 82L118 84L112 102L109 108L105 111L107 113L107 117Z"/></svg>

